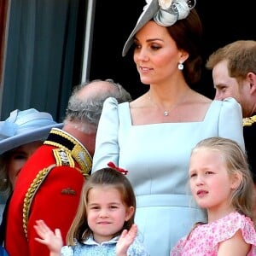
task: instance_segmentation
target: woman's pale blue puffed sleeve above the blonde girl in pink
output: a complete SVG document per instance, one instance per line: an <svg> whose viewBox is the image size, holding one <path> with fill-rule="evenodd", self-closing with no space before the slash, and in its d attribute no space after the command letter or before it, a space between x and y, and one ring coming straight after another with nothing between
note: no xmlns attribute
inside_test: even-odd
<svg viewBox="0 0 256 256"><path fill-rule="evenodd" d="M218 136L230 138L245 150L241 105L232 97L224 99L219 114Z"/></svg>

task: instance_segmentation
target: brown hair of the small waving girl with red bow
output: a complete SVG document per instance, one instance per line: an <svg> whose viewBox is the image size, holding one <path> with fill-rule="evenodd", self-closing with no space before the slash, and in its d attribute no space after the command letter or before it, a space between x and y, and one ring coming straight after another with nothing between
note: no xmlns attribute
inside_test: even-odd
<svg viewBox="0 0 256 256"><path fill-rule="evenodd" d="M114 189L118 189L121 195L121 200L126 207L134 207L136 210L136 197L132 189L131 183L127 177L121 172L114 170L113 168L102 168L91 174L88 180L84 182L84 186L81 192L80 202L78 212L73 219L73 224L67 232L67 245L75 245L75 241L83 242L90 235L92 235L92 230L87 222L87 204L88 195L90 189L109 186ZM134 224L135 211L128 221L125 221L123 229L119 230L118 236L123 230L129 230L131 225Z"/></svg>

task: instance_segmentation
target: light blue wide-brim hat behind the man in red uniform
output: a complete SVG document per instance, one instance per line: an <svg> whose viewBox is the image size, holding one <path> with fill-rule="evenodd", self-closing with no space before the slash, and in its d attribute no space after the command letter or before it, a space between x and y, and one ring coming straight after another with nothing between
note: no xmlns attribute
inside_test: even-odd
<svg viewBox="0 0 256 256"><path fill-rule="evenodd" d="M51 114L39 112L35 108L10 113L9 118L0 122L0 154L26 143L44 141L51 128L62 128Z"/></svg>

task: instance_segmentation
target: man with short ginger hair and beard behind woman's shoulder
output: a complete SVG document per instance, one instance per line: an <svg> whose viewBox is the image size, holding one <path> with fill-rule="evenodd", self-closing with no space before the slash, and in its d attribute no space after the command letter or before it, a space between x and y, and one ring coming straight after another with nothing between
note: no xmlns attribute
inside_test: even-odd
<svg viewBox="0 0 256 256"><path fill-rule="evenodd" d="M217 49L206 67L212 69L215 99L234 97L241 104L245 147L256 186L256 41L238 40Z"/></svg>

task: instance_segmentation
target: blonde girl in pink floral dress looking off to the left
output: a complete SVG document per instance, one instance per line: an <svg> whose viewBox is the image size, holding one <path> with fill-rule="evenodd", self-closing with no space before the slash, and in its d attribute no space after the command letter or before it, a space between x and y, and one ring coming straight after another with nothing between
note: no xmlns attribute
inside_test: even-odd
<svg viewBox="0 0 256 256"><path fill-rule="evenodd" d="M256 255L253 179L239 145L221 137L198 143L190 156L189 184L207 210L207 224L196 224L171 255Z"/></svg>

